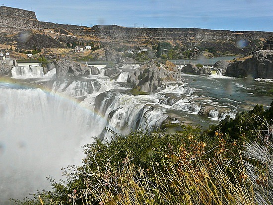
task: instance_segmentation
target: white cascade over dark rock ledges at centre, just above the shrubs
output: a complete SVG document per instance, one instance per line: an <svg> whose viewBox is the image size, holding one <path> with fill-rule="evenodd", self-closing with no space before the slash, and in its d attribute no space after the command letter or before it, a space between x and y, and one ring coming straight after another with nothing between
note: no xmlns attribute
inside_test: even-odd
<svg viewBox="0 0 273 205"><path fill-rule="evenodd" d="M146 126L151 130L154 126L160 126L166 119L164 109L160 106L153 108L158 100L153 96L130 96L119 93L108 106L105 117L110 116L109 126L121 134Z"/></svg>

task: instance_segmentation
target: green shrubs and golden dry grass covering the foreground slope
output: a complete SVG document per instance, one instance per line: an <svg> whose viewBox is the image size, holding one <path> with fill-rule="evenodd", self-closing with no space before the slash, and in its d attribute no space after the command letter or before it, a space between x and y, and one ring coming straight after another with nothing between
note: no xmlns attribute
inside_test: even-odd
<svg viewBox="0 0 273 205"><path fill-rule="evenodd" d="M112 133L85 145L83 165L22 205L273 204L273 103L208 130Z"/></svg>

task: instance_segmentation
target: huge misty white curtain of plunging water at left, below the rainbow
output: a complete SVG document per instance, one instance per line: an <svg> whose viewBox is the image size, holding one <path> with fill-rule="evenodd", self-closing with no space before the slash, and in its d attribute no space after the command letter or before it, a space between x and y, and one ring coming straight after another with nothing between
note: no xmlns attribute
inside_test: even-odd
<svg viewBox="0 0 273 205"><path fill-rule="evenodd" d="M48 189L47 176L60 179L62 167L78 164L81 145L101 132L93 129L94 118L89 109L41 89L0 88L0 202Z"/></svg>

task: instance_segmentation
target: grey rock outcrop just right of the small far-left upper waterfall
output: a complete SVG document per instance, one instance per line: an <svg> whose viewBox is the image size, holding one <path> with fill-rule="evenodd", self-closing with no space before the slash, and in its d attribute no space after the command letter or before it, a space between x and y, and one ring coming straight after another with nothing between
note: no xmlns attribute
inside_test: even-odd
<svg viewBox="0 0 273 205"><path fill-rule="evenodd" d="M56 68L56 76L78 76L89 74L89 67L75 61L60 59L53 62Z"/></svg>

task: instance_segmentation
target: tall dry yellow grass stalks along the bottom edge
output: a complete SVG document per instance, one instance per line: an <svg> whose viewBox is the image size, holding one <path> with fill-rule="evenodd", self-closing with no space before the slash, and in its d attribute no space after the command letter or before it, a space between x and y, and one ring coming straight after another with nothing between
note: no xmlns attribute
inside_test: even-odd
<svg viewBox="0 0 273 205"><path fill-rule="evenodd" d="M235 173L226 173L221 167L211 171L202 162L196 169L184 166L180 171L175 164L165 166L165 171L153 170L151 182L143 169L136 173L128 160L116 175L117 184L103 180L84 190L84 196L93 195L99 205L256 205L247 178L239 182ZM114 194L113 190L118 191Z"/></svg>

